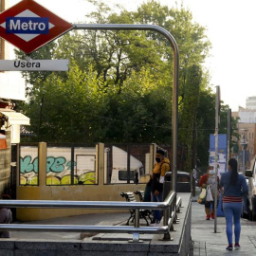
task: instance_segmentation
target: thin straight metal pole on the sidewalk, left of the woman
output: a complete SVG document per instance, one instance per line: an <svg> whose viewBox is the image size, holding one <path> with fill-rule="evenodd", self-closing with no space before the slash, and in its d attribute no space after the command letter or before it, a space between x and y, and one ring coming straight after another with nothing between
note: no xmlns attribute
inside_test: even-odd
<svg viewBox="0 0 256 256"><path fill-rule="evenodd" d="M220 86L216 86L216 110L215 110L215 158L214 158L214 170L215 170L215 194L214 194L214 233L217 232L217 176L218 176L218 147L219 147L219 116L220 116Z"/></svg>

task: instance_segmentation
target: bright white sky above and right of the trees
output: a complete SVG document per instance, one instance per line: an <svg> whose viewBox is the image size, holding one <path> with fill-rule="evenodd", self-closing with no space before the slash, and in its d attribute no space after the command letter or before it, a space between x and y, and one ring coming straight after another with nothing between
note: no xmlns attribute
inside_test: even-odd
<svg viewBox="0 0 256 256"><path fill-rule="evenodd" d="M9 0L11 4L18 0ZM135 10L146 0L104 0ZM92 10L86 0L36 0L70 23L83 21ZM256 1L255 0L159 0L163 5L175 3L192 11L193 21L206 27L212 48L205 66L210 70L210 86L220 86L221 100L232 111L246 107L247 97L256 96ZM172 33L172 31L170 31Z"/></svg>

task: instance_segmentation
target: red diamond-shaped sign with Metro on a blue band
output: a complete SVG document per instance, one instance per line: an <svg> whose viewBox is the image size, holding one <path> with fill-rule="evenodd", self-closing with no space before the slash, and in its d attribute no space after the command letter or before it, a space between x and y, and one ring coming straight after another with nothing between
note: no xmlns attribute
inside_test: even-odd
<svg viewBox="0 0 256 256"><path fill-rule="evenodd" d="M23 0L0 13L0 37L27 54L73 26L33 0Z"/></svg>

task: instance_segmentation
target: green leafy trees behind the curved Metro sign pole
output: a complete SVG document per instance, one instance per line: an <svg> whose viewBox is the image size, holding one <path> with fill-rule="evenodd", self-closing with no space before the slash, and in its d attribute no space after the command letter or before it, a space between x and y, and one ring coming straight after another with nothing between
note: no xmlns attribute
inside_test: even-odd
<svg viewBox="0 0 256 256"><path fill-rule="evenodd" d="M137 11L96 10L86 23L154 24L172 33L179 46L179 137L182 161L192 150L208 161L214 132L215 96L203 64L210 42L189 9L170 9L151 0ZM18 58L25 58L20 51ZM172 144L173 50L155 31L70 31L30 55L69 59L69 72L24 73L29 102L19 107L31 119L35 139L55 142L156 142ZM206 111L207 110L207 111ZM194 139L196 137L196 139ZM195 146L195 141L197 145Z"/></svg>

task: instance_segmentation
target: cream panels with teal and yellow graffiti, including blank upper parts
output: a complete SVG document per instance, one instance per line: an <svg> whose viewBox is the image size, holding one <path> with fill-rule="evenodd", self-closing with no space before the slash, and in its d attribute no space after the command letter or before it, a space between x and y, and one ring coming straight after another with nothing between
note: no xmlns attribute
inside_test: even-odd
<svg viewBox="0 0 256 256"><path fill-rule="evenodd" d="M70 159L70 149L58 149L52 148L51 150L51 148L47 148L47 154L51 156L46 157L46 185L71 185L72 161ZM21 147L20 185L38 186L39 160L37 151L37 147ZM96 155L92 153L89 153L89 155L88 152L82 152L82 149L79 149L77 153L74 155L76 161L74 161L73 184L96 184ZM62 155L59 156L60 154Z"/></svg>

